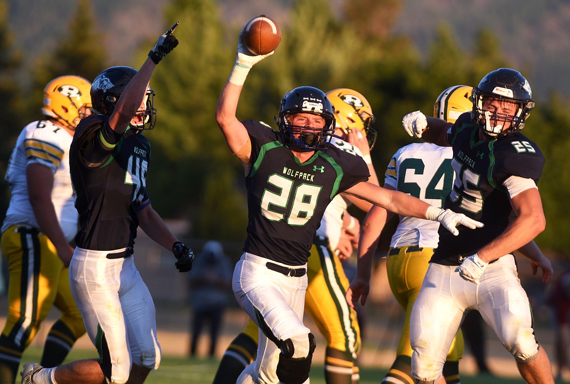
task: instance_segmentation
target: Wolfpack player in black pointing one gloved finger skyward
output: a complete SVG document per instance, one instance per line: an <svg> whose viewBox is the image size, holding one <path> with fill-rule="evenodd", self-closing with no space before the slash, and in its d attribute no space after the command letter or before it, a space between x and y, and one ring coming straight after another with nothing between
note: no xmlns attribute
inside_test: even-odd
<svg viewBox="0 0 570 384"><path fill-rule="evenodd" d="M82 120L71 143L80 229L70 283L100 358L55 368L29 362L22 383L142 383L160 364L154 303L133 261L133 245L140 226L172 249L178 270L192 268L192 250L152 208L145 180L150 144L142 131L152 129L156 117L149 81L178 44L175 26L158 38L138 72L111 67L97 75L91 88L97 113Z"/></svg>

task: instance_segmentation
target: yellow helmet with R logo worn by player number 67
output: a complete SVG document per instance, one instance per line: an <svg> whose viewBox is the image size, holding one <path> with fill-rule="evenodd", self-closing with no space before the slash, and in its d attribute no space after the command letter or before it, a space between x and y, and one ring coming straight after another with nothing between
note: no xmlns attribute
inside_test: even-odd
<svg viewBox="0 0 570 384"><path fill-rule="evenodd" d="M43 89L42 113L72 129L86 117L83 107L91 108L91 82L81 76L56 77Z"/></svg>

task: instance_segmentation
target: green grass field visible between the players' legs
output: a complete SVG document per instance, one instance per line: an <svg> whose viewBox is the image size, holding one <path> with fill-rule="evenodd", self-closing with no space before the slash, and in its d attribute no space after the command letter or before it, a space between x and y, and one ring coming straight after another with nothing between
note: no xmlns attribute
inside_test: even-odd
<svg viewBox="0 0 570 384"><path fill-rule="evenodd" d="M40 360L41 349L38 346L30 346L22 358L23 362ZM79 360L82 358L93 358L95 355L91 350L72 350L67 361ZM178 356L163 356L160 368L150 373L145 383L148 384L168 384L168 383L191 383L208 384L211 383L219 360L187 358ZM384 376L385 368L361 368L360 384L377 384ZM323 378L323 366L313 364L311 368L311 383L325 384ZM471 376L462 375L462 384L515 384L524 383L520 378L492 377L492 376Z"/></svg>

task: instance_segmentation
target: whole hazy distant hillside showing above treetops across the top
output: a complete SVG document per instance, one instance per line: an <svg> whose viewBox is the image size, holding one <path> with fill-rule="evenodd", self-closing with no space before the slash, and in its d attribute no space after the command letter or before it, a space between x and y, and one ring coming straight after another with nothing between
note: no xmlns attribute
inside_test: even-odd
<svg viewBox="0 0 570 384"><path fill-rule="evenodd" d="M63 34L77 0L9 0L11 28L19 45L25 48L26 65L55 47ZM402 0L404 10L396 32L409 35L427 52L439 23L448 23L457 41L471 51L482 28L494 31L510 57L531 82L535 98L557 90L570 96L570 2L565 0ZM143 39L156 35L157 17L168 0L93 0L92 6L105 44L116 63L125 63ZM239 24L260 14L280 15L294 0L219 0L229 23ZM340 15L343 0L331 0ZM157 16L158 15L158 16ZM490 68L492 70L494 68Z"/></svg>

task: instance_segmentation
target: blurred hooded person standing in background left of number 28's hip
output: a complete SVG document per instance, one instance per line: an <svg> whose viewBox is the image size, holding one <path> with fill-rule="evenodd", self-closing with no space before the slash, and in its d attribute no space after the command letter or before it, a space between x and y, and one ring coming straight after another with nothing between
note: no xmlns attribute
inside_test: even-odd
<svg viewBox="0 0 570 384"><path fill-rule="evenodd" d="M222 327L223 316L231 293L231 275L233 265L223 252L219 241L205 243L202 253L198 255L190 272L190 288L192 294L192 324L190 331L190 356L196 356L198 338L203 325L210 327L209 357L214 357L218 342L219 331Z"/></svg>

